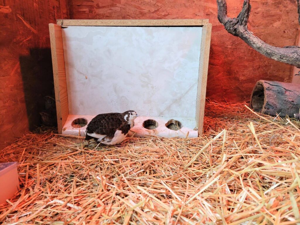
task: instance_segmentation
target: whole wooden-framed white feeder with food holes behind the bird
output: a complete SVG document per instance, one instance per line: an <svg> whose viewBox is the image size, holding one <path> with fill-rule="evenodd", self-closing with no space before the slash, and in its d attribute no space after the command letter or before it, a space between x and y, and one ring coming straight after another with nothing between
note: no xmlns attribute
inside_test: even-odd
<svg viewBox="0 0 300 225"><path fill-rule="evenodd" d="M85 136L96 115L127 110L140 116L135 136L202 134L208 19L58 20L49 31L60 134Z"/></svg>

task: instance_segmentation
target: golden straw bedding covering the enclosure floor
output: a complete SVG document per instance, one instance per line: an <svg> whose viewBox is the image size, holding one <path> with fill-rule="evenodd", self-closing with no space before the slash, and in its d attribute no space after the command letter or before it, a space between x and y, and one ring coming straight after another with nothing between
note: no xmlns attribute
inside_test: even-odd
<svg viewBox="0 0 300 225"><path fill-rule="evenodd" d="M0 153L20 163L21 186L0 223L300 223L299 125L207 102L199 138L97 146L27 134Z"/></svg>

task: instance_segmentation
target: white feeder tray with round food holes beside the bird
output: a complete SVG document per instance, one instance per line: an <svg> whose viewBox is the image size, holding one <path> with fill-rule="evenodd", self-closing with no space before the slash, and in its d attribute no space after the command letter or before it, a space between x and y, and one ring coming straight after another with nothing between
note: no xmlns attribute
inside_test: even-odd
<svg viewBox="0 0 300 225"><path fill-rule="evenodd" d="M88 123L95 116L79 116L70 115L65 127L63 128L63 134L85 136L85 130ZM134 126L129 131L129 136L145 137L160 136L160 137L198 137L197 128L194 126L194 119L192 118L175 118L168 119L165 117L147 117L140 116L134 120Z"/></svg>

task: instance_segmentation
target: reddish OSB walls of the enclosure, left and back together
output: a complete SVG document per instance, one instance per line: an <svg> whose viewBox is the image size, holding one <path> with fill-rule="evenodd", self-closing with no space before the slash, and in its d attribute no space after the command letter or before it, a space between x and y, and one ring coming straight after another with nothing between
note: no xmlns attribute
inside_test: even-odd
<svg viewBox="0 0 300 225"><path fill-rule="evenodd" d="M249 29L267 43L295 45L295 0L251 0ZM242 0L228 0L236 16ZM207 97L245 101L259 79L289 82L292 67L265 58L229 35L216 0L0 0L0 149L39 125L53 88L48 23L56 19L210 19ZM297 30L298 29L298 30Z"/></svg>

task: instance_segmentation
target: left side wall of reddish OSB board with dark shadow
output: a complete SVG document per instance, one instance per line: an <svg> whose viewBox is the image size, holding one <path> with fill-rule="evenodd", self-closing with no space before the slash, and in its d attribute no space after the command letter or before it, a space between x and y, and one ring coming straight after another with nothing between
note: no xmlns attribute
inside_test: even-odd
<svg viewBox="0 0 300 225"><path fill-rule="evenodd" d="M40 124L53 88L48 23L67 17L66 0L0 0L0 149Z"/></svg>

